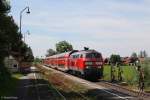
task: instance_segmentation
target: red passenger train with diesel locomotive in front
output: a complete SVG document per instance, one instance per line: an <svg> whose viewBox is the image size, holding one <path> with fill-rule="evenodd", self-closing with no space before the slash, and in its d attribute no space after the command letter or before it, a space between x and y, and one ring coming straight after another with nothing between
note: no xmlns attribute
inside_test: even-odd
<svg viewBox="0 0 150 100"><path fill-rule="evenodd" d="M73 50L43 60L44 65L64 72L80 75L85 79L103 77L103 57L96 50Z"/></svg>

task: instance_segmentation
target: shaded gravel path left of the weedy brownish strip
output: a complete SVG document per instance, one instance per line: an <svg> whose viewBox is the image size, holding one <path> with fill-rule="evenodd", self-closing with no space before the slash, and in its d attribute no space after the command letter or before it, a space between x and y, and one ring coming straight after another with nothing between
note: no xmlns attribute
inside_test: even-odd
<svg viewBox="0 0 150 100"><path fill-rule="evenodd" d="M38 72L29 73L19 81L17 100L65 100Z"/></svg>

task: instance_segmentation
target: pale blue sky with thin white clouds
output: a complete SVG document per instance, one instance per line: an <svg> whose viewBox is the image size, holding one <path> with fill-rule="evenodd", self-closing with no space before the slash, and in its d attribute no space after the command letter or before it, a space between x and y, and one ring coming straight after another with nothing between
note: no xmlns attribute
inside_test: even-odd
<svg viewBox="0 0 150 100"><path fill-rule="evenodd" d="M74 49L88 46L102 52L129 56L150 52L150 0L11 0L11 15L22 31L34 56L44 56L48 48L66 40Z"/></svg>

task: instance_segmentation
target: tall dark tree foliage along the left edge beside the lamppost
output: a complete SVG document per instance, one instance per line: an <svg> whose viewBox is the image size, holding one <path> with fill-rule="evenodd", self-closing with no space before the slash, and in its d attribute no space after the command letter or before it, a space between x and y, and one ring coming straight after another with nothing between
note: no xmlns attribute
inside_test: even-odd
<svg viewBox="0 0 150 100"><path fill-rule="evenodd" d="M30 47L22 41L18 26L12 16L8 15L10 6L6 0L0 0L0 84L10 78L4 67L4 58L12 55L18 61L32 61Z"/></svg>

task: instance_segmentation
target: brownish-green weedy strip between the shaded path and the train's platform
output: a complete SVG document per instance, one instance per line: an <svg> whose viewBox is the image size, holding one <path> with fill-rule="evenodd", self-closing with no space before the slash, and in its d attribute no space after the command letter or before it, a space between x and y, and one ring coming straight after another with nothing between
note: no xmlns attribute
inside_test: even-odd
<svg viewBox="0 0 150 100"><path fill-rule="evenodd" d="M50 86L55 87L63 96L65 96L66 99L81 100L83 99L82 96L89 99L84 95L84 92L86 91L84 86L65 78L64 75L53 72L46 72L45 75L45 79L49 81Z"/></svg>

